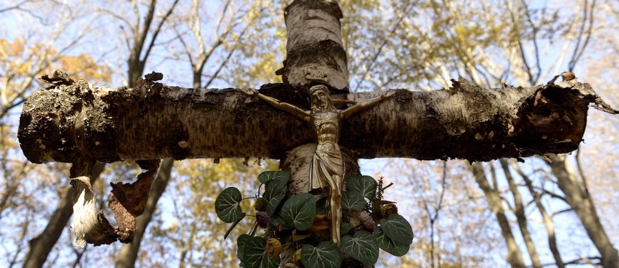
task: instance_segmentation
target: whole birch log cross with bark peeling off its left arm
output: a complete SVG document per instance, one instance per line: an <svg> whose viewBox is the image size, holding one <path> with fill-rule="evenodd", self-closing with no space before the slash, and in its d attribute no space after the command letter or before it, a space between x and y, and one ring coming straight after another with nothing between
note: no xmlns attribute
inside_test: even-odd
<svg viewBox="0 0 619 268"><path fill-rule="evenodd" d="M276 72L283 83L263 85L262 101L253 100L243 89L162 85L156 82L162 78L157 73L146 75L133 89L93 87L62 72L44 76L52 85L33 93L23 105L19 126L23 153L33 163L74 164L73 226L81 243L95 245L118 239L131 242L135 216L143 210L144 194L156 174L156 159L282 159L282 168L292 172L287 194L307 192L315 170L316 142L321 144L318 131L298 120L305 116L299 111L310 111L310 87L322 85L329 89L329 99L357 108L355 103L384 93L349 93L341 18L334 0L296 0L285 9L287 56ZM459 79L453 80L453 87L438 91L391 92L393 96L355 110L338 126L336 144L349 168L343 181L358 173L360 158L488 161L567 153L582 140L590 103L618 113L588 84L575 80L481 89ZM290 104L294 111L268 100ZM119 224L115 228L104 221L105 216L97 216L87 175L95 161L128 159L140 160L147 171L131 185L114 186L110 203ZM335 229L332 225L332 234ZM338 238L332 235L334 241Z"/></svg>

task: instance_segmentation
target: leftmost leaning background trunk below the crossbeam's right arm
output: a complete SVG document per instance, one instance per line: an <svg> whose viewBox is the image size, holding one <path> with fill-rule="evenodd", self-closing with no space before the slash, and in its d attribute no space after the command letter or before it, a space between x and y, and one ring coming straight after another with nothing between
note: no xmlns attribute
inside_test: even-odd
<svg viewBox="0 0 619 268"><path fill-rule="evenodd" d="M512 234L512 227L510 227L510 222L508 221L507 216L505 215L505 210L503 209L503 200L499 197L497 190L493 189L488 183L488 179L486 179L486 172L484 172L484 167L481 166L481 163L475 162L470 164L469 168L471 172L473 172L473 176L475 176L475 181L477 181L479 188L484 190L490 210L492 210L492 212L495 213L495 216L497 216L499 227L501 227L501 234L503 235L503 238L505 238L505 243L508 248L508 256L506 258L508 263L510 263L512 267L525 267L522 254L520 253L520 249L514 239L514 234Z"/></svg>

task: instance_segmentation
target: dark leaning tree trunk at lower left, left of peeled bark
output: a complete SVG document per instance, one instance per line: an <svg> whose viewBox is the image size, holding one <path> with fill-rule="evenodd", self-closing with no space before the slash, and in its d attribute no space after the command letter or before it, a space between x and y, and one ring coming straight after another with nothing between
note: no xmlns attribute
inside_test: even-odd
<svg viewBox="0 0 619 268"><path fill-rule="evenodd" d="M105 163L98 162L94 165L90 183L94 183L99 178L104 167ZM47 256L52 252L52 248L56 245L58 238L60 238L63 229L65 229L67 222L69 222L73 214L73 194L74 188L69 188L63 200L58 203L43 232L32 238L28 254L26 254L23 260L23 267L43 267L43 263L45 263Z"/></svg>

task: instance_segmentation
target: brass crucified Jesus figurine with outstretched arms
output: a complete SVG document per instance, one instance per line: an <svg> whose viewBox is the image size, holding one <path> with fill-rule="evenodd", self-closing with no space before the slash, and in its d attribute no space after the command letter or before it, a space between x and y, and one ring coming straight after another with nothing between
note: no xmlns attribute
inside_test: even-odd
<svg viewBox="0 0 619 268"><path fill-rule="evenodd" d="M338 141L340 139L340 122L350 115L372 107L378 102L393 95L393 91L365 100L359 104L338 110L329 97L329 89L324 85L316 85L310 88L310 111L304 111L292 104L280 102L269 96L264 96L258 91L249 89L246 91L252 96L257 96L271 106L296 115L301 120L310 122L316 132L316 153L310 164L310 191L319 188L329 189L327 205L329 206L329 218L331 219L331 239L336 245L340 245L340 223L342 221L342 179L345 166Z"/></svg>

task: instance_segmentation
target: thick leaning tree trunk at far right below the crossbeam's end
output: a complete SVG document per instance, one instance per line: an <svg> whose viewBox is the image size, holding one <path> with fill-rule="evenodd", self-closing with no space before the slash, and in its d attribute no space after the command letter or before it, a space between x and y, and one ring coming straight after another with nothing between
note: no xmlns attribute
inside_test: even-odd
<svg viewBox="0 0 619 268"><path fill-rule="evenodd" d="M617 249L613 247L604 230L604 226L600 222L593 200L580 186L574 170L565 160L565 155L553 154L547 155L547 157L550 157L552 160L550 168L552 174L556 177L558 187L565 194L565 201L574 209L576 216L578 216L587 234L589 234L589 238L591 238L591 241L600 252L602 266L619 267Z"/></svg>

